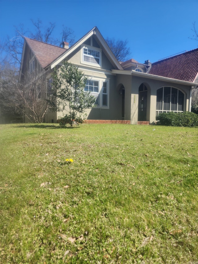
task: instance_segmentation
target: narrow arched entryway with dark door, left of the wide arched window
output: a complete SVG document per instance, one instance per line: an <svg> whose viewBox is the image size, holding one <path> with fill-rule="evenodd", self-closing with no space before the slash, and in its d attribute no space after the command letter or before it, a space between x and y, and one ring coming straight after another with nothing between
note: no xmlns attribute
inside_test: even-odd
<svg viewBox="0 0 198 264"><path fill-rule="evenodd" d="M139 87L138 121L147 121L147 96L148 89L145 84Z"/></svg>

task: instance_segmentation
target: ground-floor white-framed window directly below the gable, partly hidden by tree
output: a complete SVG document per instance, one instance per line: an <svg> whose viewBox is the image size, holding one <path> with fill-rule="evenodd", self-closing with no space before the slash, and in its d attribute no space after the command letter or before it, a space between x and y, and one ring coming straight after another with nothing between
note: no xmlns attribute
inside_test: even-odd
<svg viewBox="0 0 198 264"><path fill-rule="evenodd" d="M96 97L98 107L108 107L108 83L103 80L87 80L85 83L84 91Z"/></svg>

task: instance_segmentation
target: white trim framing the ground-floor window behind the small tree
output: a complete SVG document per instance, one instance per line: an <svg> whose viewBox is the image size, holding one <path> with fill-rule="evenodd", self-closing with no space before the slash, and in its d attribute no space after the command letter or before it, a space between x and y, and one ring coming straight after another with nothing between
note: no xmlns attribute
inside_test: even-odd
<svg viewBox="0 0 198 264"><path fill-rule="evenodd" d="M95 78L95 77L88 77L87 80L93 80L93 81L98 81L98 89L99 89L99 93L94 93L91 92L90 94L98 94L99 95L99 105L96 105L94 108L101 108L101 109L109 109L109 84L110 81L109 79L103 79L103 78ZM103 106L102 105L102 86L103 86L103 82L107 83L107 106Z"/></svg>

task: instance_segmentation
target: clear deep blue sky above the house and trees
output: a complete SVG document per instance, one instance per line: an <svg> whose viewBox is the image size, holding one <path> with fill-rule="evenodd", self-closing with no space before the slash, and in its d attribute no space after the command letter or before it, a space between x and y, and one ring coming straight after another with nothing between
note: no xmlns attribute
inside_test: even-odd
<svg viewBox="0 0 198 264"><path fill-rule="evenodd" d="M73 29L76 41L97 26L104 38L127 40L131 58L155 62L198 47L190 39L197 14L198 0L0 0L0 41L39 18L55 22L57 35L62 24Z"/></svg>

